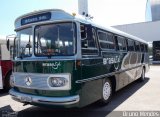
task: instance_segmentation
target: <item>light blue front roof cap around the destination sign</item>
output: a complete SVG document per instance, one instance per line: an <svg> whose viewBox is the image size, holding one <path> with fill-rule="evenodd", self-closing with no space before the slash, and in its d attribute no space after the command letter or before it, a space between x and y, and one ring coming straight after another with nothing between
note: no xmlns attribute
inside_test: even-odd
<svg viewBox="0 0 160 117"><path fill-rule="evenodd" d="M74 20L74 16L60 9L39 10L18 17L15 20L15 27L20 28L27 24L53 20Z"/></svg>

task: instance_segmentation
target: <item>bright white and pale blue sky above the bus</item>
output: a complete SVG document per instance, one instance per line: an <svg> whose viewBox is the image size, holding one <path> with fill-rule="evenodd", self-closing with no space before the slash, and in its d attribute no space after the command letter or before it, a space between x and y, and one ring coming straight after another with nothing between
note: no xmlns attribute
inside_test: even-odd
<svg viewBox="0 0 160 117"><path fill-rule="evenodd" d="M145 8L146 0L88 0L93 21L103 26L144 22ZM15 34L14 21L17 17L42 9L77 13L78 0L1 0L0 35Z"/></svg>

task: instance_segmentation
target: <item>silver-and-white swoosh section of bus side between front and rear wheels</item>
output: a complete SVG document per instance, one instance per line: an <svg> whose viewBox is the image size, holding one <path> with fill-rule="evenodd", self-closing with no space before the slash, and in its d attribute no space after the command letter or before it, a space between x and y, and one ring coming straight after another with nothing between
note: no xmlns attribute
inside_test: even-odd
<svg viewBox="0 0 160 117"><path fill-rule="evenodd" d="M118 74L118 86L117 90L125 87L129 83L135 81L141 76L142 66L141 66L141 53L136 52L126 52L121 53L121 73ZM139 66L139 67L138 67ZM124 70L124 71L123 71Z"/></svg>

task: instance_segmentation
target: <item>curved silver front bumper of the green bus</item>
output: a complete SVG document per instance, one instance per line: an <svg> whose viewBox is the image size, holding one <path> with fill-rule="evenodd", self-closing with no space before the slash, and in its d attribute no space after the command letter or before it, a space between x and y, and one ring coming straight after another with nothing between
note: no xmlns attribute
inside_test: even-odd
<svg viewBox="0 0 160 117"><path fill-rule="evenodd" d="M24 94L17 92L14 89L9 91L12 99L22 102L22 103L35 103L35 104L45 104L45 105L72 105L79 102L79 95L68 96L68 97L44 97L44 96L35 96L30 94Z"/></svg>

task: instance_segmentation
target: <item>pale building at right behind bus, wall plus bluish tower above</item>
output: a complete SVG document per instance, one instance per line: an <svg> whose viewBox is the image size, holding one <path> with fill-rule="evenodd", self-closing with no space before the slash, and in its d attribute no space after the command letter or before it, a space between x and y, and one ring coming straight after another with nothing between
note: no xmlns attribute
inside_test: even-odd
<svg viewBox="0 0 160 117"><path fill-rule="evenodd" d="M160 40L160 0L147 0L146 21L113 26L148 42Z"/></svg>

